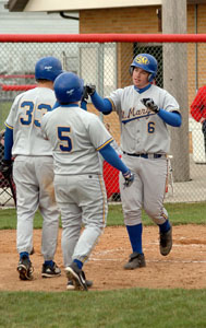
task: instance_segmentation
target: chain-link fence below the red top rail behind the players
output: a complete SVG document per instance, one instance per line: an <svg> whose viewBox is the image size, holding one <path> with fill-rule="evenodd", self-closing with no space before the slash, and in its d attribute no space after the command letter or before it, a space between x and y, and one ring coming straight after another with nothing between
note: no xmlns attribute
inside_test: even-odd
<svg viewBox="0 0 206 328"><path fill-rule="evenodd" d="M83 37L84 35L82 35ZM44 42L44 35L39 35L39 42L29 42L29 35L26 35L25 42L7 42L7 39L1 42L0 38L0 130L4 129L3 124L15 96L25 90L35 87L34 68L40 57L58 57L62 61L64 70L77 73L85 84L95 84L101 96L108 96L113 90L132 83L129 68L133 58L141 52L150 54L158 61L158 74L155 83L167 89L166 81L169 81L168 91L174 95L180 105L186 95L183 108L181 107L183 125L180 129L171 129L172 150L168 154L170 169L166 201L205 201L206 137L202 130L204 127L202 115L206 118L206 109L204 109L206 108L206 91L202 93L202 97L196 99L193 112L191 112L191 105L197 90L204 85L206 77L204 65L206 43L178 43L177 48L173 43L153 42L153 38L147 42L138 42L138 39L99 43L84 39L82 42L57 40L58 35L56 42ZM166 56L166 54L169 55ZM178 59L177 54L180 56ZM180 62L185 63L184 67L181 69L173 65L172 68L171 61L175 63L179 59ZM185 68L186 73L184 72ZM177 80L172 82L171 74L175 73L181 79L182 72L186 74L184 84L183 87L178 87L179 82L177 83ZM87 110L98 115L106 124L116 140L113 147L121 156L121 127L116 113L102 116L89 102ZM181 134L178 130L181 130ZM178 141L177 136L179 136ZM107 163L102 163L102 169L108 200L121 201L118 171ZM12 206L13 201L7 181L1 175L0 179L0 206L9 203Z"/></svg>

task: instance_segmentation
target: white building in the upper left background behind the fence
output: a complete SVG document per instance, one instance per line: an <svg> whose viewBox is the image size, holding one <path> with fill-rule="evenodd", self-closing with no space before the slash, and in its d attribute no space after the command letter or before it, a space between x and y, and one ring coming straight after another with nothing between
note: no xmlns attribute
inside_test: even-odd
<svg viewBox="0 0 206 328"><path fill-rule="evenodd" d="M74 19L59 13L10 12L4 8L7 2L0 0L0 34L78 34L77 12L68 15ZM35 62L44 56L56 56L64 69L76 71L76 45L0 43L0 75L33 73Z"/></svg>

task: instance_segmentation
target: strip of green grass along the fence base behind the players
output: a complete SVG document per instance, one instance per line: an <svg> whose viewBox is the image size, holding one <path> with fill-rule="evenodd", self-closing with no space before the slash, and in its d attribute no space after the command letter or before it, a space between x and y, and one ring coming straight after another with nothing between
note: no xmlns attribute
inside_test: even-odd
<svg viewBox="0 0 206 328"><path fill-rule="evenodd" d="M166 209L173 225L178 224L205 224L206 204L205 202L194 203L167 203ZM110 204L107 225L123 225L123 214L121 204ZM143 211L144 225L153 225L153 221ZM39 212L36 213L34 227L41 227L43 219ZM61 222L60 222L61 226ZM15 209L0 210L0 229L15 229Z"/></svg>

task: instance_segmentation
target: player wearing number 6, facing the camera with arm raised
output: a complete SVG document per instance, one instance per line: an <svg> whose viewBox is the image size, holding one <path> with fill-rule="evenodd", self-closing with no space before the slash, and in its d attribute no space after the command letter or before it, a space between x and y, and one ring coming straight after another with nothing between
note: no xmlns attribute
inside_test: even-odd
<svg viewBox="0 0 206 328"><path fill-rule="evenodd" d="M94 85L87 85L93 104L104 114L117 112L121 125L123 161L134 173L130 190L120 191L124 223L132 254L124 269L145 267L142 246L142 208L159 226L160 254L172 248L172 226L163 208L168 176L167 154L170 137L167 126L180 127L179 104L166 90L153 84L157 74L157 60L148 54L137 55L130 66L133 85L118 89L101 98Z"/></svg>

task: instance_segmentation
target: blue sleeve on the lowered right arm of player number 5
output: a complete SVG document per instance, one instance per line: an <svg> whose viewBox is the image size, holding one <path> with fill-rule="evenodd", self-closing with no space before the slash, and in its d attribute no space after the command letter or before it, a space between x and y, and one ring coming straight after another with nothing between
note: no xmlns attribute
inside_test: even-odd
<svg viewBox="0 0 206 328"><path fill-rule="evenodd" d="M99 153L111 166L121 171L123 174L129 171L129 168L125 166L125 164L122 162L118 153L110 144L107 144L101 150L99 150Z"/></svg>

